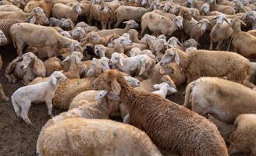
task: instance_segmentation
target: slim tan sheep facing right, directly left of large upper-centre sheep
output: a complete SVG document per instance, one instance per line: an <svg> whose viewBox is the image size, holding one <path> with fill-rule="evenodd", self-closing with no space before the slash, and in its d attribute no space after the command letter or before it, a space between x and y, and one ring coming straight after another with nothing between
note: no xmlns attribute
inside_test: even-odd
<svg viewBox="0 0 256 156"><path fill-rule="evenodd" d="M134 20L128 20L123 23L126 23L126 27L124 29L116 28L116 29L112 29L112 30L99 30L99 31L97 31L97 33L101 37L107 37L112 34L119 34L121 36L121 35L127 33L130 29L139 27L139 25Z"/></svg>

